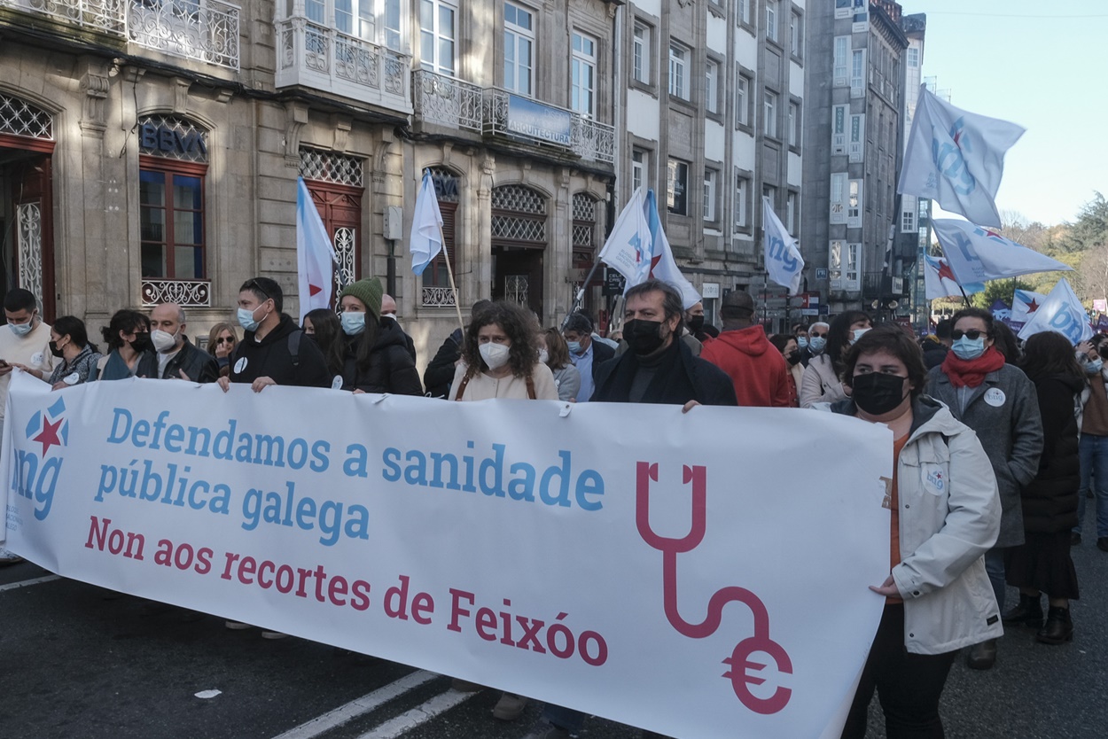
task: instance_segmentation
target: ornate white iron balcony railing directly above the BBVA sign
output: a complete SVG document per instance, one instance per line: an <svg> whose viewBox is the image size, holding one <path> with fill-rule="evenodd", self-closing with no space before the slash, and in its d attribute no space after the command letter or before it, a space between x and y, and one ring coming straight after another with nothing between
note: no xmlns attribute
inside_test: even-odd
<svg viewBox="0 0 1108 739"><path fill-rule="evenodd" d="M238 69L238 6L222 0L132 0L127 16L127 38L141 47Z"/></svg>

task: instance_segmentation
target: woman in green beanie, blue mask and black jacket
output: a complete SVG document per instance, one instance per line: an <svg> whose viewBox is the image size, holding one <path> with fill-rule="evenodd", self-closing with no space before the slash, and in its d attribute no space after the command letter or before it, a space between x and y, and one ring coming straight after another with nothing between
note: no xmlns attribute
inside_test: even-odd
<svg viewBox="0 0 1108 739"><path fill-rule="evenodd" d="M422 396L416 362L400 328L381 320L384 288L376 277L351 283L339 295L346 353L342 389L353 392L391 392Z"/></svg>

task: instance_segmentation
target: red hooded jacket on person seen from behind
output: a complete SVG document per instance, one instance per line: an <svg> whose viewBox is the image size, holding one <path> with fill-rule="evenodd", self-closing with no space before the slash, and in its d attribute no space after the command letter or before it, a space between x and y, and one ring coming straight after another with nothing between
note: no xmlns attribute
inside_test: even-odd
<svg viewBox="0 0 1108 739"><path fill-rule="evenodd" d="M789 367L761 326L724 331L704 342L700 359L731 378L739 406L790 408Z"/></svg>

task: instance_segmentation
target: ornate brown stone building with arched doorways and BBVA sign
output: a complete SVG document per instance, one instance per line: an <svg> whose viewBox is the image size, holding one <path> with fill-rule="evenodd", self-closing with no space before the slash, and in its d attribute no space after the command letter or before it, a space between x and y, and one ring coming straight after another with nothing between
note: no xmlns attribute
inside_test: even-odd
<svg viewBox="0 0 1108 739"><path fill-rule="evenodd" d="M430 168L462 304L551 322L606 229L619 4L0 0L6 281L94 325L175 300L198 335L266 274L295 312L302 176L337 287L380 276L437 345L444 264L404 250Z"/></svg>

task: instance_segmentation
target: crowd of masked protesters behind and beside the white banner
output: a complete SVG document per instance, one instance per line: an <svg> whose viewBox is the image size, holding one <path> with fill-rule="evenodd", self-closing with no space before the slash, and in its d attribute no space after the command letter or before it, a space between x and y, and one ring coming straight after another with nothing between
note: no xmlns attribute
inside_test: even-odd
<svg viewBox="0 0 1108 739"><path fill-rule="evenodd" d="M1079 594L1069 547L1080 544L1087 494L1096 500L1096 544L1108 552L1108 337L1074 347L1043 332L1020 343L977 308L940 321L921 341L900 326L875 326L862 311L768 336L749 294L724 297L716 328L702 305L686 309L680 292L657 280L629 289L624 305L615 341L584 312L544 328L520 305L478 301L421 378L414 343L377 278L347 286L336 310L312 310L302 326L284 312L276 281L247 280L237 320L214 326L203 349L188 339L182 307L123 309L101 329L104 353L80 319L62 316L48 326L35 296L13 289L3 306L9 330L0 331L0 393L18 367L57 390L137 377L434 402L845 414L892 431L894 473L889 576L871 587L884 597L884 612L844 737L864 736L874 691L888 736L943 736L938 699L957 651L966 648L971 667L991 668L1002 624L1030 628L1047 645L1074 638L1069 603ZM0 429L2 412L0 398ZM0 550L0 563L18 560ZM1009 608L1007 586L1019 593ZM505 692L494 716L514 720L526 704ZM547 705L530 737L575 736L585 718Z"/></svg>

